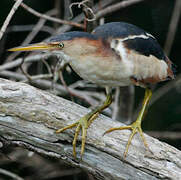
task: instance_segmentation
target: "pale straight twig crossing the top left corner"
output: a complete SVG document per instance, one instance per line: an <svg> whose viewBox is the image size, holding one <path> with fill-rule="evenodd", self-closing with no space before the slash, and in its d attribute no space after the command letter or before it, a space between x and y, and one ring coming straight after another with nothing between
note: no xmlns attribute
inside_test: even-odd
<svg viewBox="0 0 181 180"><path fill-rule="evenodd" d="M0 40L1 40L4 32L6 31L6 28L7 28L8 24L9 24L11 18L13 17L14 13L15 13L16 10L18 9L18 7L19 7L20 4L22 3L22 1L23 1L23 0L17 0L17 1L14 3L11 11L9 12L6 20L4 21L3 26L1 27L1 30L0 30Z"/></svg>

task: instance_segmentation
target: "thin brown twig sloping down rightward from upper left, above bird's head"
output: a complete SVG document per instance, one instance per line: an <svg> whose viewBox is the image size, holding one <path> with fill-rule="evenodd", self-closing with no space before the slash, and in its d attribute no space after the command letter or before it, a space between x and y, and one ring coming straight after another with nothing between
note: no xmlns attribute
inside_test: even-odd
<svg viewBox="0 0 181 180"><path fill-rule="evenodd" d="M17 1L17 0L15 0L15 1ZM44 18L44 19L47 19L49 21L53 21L53 22L60 23L60 24L67 24L67 25L78 27L78 28L84 28L84 26L82 24L78 24L78 23L75 23L75 22L72 22L72 21L66 21L66 20L54 18L54 17L51 17L51 16L47 16L45 14L39 13L38 11L35 11L34 9L32 9L31 7L27 6L24 3L21 3L20 5L21 5L21 7L26 9L29 13L31 13L31 14L37 16L37 17Z"/></svg>

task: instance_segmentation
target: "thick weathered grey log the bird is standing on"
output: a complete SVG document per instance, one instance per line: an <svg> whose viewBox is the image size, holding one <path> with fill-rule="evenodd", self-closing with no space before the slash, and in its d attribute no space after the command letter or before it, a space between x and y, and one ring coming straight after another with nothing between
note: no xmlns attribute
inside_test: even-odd
<svg viewBox="0 0 181 180"><path fill-rule="evenodd" d="M136 137L123 160L130 132L102 136L108 128L122 125L103 115L88 130L83 160L75 160L71 145L74 131L55 134L55 129L73 123L87 112L84 107L30 85L0 79L1 143L22 145L62 159L98 179L181 179L181 152L147 135L152 153ZM77 151L79 154L80 144Z"/></svg>

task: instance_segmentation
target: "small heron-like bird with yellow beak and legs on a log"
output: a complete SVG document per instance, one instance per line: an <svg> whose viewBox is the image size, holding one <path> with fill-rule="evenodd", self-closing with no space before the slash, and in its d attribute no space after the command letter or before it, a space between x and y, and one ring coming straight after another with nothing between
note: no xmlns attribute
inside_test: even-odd
<svg viewBox="0 0 181 180"><path fill-rule="evenodd" d="M94 119L112 103L112 88L135 85L145 89L142 108L137 119L127 126L113 127L104 134L116 130L131 130L124 157L131 141L139 133L146 149L149 149L141 123L152 96L151 85L175 78L172 61L164 53L156 38L142 28L127 22L110 22L96 27L91 33L70 31L53 36L48 42L9 49L9 51L52 51L66 55L66 61L84 80L105 87L106 99L98 107L75 123L58 129L56 133L76 127L72 142L76 158L76 142L82 133L80 156L85 151L87 129Z"/></svg>

